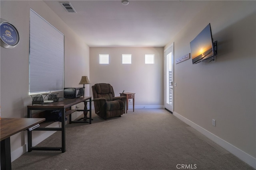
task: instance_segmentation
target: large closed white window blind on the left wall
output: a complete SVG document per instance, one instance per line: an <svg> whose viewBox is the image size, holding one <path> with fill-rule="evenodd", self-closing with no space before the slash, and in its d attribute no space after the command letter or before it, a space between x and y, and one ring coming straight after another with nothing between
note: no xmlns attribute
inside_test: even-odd
<svg viewBox="0 0 256 170"><path fill-rule="evenodd" d="M64 35L30 9L29 94L64 87Z"/></svg>

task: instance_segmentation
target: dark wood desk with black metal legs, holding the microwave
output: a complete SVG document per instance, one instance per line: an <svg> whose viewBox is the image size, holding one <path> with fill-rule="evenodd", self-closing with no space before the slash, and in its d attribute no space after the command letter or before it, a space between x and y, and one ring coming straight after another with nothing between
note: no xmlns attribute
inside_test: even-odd
<svg viewBox="0 0 256 170"><path fill-rule="evenodd" d="M86 105L87 102L90 103L90 108L84 107L84 110L76 110L71 109L71 106L74 106L78 103L84 102ZM61 131L61 147L32 147L32 131L28 132L28 152L32 150L61 150L62 152L66 151L66 142L65 142L65 117L69 115L69 123L92 123L92 97L80 97L80 98L72 98L72 99L64 99L60 102L52 102L50 104L43 105L30 105L28 107L28 117L32 117L32 110L60 110L61 111L61 127L40 127L34 129L34 131ZM89 111L90 117L89 121L71 121L71 114L76 111L84 111L84 116L87 115L87 111Z"/></svg>

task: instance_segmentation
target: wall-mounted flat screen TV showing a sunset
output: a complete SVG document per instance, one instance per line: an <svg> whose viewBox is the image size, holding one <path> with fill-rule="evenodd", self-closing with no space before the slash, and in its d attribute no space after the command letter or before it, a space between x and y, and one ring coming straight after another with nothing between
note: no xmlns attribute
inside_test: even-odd
<svg viewBox="0 0 256 170"><path fill-rule="evenodd" d="M210 23L190 42L192 64L217 55L217 41L213 42Z"/></svg>

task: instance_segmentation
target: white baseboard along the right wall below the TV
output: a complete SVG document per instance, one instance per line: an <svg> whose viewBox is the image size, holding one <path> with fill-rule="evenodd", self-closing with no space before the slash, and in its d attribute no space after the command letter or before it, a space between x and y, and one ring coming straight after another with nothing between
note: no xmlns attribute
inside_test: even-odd
<svg viewBox="0 0 256 170"><path fill-rule="evenodd" d="M215 143L217 143L218 145L228 150L229 152L234 154L236 157L238 157L239 159L241 159L242 161L246 162L247 164L249 164L250 166L256 169L256 158L238 149L234 145L231 145L227 141L224 141L223 139L214 135L213 133L210 133L206 129L196 125L194 122L188 120L186 117L183 117L182 115L176 113L175 111L173 112L173 115L178 117L178 119L180 119L181 121L184 121L186 124L190 125L194 129L202 133L204 136L208 137L209 139L211 139L212 141L214 141Z"/></svg>

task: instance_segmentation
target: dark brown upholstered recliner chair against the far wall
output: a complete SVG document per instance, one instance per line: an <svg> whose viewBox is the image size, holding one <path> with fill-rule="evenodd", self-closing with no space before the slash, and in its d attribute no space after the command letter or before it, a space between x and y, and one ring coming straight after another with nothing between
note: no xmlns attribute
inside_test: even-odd
<svg viewBox="0 0 256 170"><path fill-rule="evenodd" d="M125 113L126 96L115 97L110 84L99 83L92 86L95 113L107 119Z"/></svg>

